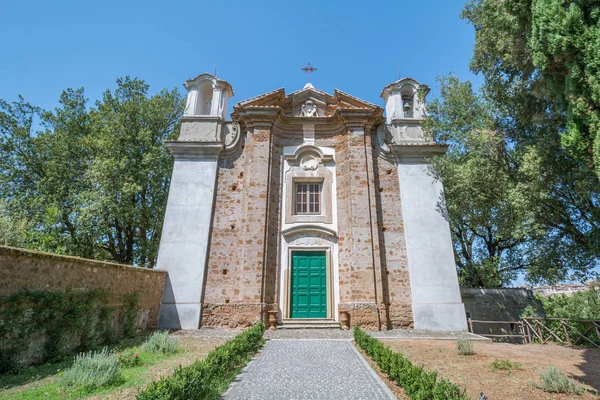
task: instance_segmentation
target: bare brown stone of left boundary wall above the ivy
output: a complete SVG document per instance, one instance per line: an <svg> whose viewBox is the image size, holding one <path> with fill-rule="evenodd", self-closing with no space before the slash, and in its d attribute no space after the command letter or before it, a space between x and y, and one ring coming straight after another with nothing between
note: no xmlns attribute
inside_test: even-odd
<svg viewBox="0 0 600 400"><path fill-rule="evenodd" d="M139 293L138 329L155 328L166 271L0 246L0 297L20 290L106 289L110 305Z"/></svg>

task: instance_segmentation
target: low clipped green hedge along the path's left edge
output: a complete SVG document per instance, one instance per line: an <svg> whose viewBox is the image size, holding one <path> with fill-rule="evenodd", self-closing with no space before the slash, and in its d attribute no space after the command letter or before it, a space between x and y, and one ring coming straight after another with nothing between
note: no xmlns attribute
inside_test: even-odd
<svg viewBox="0 0 600 400"><path fill-rule="evenodd" d="M264 344L262 323L217 347L204 360L178 367L171 376L152 382L138 400L218 399L240 369Z"/></svg>

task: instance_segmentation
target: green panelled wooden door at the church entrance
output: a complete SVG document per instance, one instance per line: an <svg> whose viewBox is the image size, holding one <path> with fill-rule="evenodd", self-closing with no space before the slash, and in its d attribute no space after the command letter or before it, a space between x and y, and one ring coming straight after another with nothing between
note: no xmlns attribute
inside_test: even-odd
<svg viewBox="0 0 600 400"><path fill-rule="evenodd" d="M292 252L292 318L327 318L324 251Z"/></svg>

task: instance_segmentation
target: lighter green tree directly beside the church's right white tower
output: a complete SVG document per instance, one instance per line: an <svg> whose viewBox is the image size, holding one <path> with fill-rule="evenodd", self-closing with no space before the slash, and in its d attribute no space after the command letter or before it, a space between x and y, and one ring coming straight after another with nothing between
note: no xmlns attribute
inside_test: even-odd
<svg viewBox="0 0 600 400"><path fill-rule="evenodd" d="M529 176L471 84L453 76L440 83L424 129L449 146L432 165L446 188L459 279L467 287L500 287L528 270L526 255L541 234L521 190Z"/></svg>

